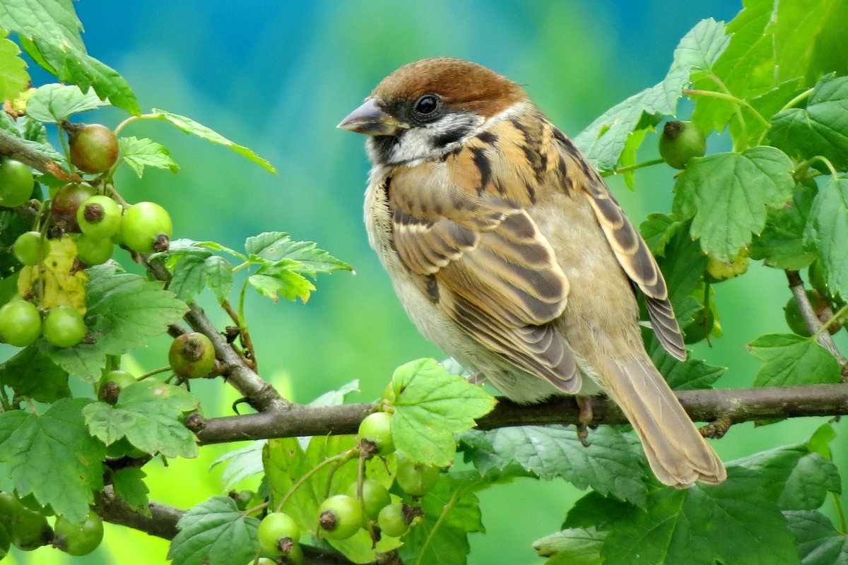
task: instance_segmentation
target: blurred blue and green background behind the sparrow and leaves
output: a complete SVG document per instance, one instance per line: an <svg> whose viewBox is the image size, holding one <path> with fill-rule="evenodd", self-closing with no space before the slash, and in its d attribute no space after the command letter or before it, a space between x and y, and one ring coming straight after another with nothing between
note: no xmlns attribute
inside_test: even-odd
<svg viewBox="0 0 848 565"><path fill-rule="evenodd" d="M317 241L354 266L356 274L321 277L306 305L272 304L249 294L260 373L295 401L308 402L351 379L361 383L354 400L371 400L399 364L441 357L406 319L368 248L361 219L364 139L335 129L384 75L417 58L467 58L526 85L555 123L576 135L606 108L661 80L679 38L700 19L727 21L740 6L729 0L81 0L75 8L89 52L126 77L142 109L198 119L253 148L280 172L269 174L161 122L131 125L124 135L165 144L182 169L176 175L148 170L143 180L123 171L117 187L128 200L165 205L175 219L175 237L239 248L249 235L281 230ZM31 70L36 84L49 80ZM683 103L681 114L688 111ZM80 119L114 126L124 117L104 110ZM711 151L725 147L722 136L712 136ZM650 135L639 158L655 157L656 135ZM646 213L669 210L674 172L664 166L640 170L634 192L620 179L610 184L639 223ZM788 298L784 275L759 264L717 287L725 337L711 348L696 347L695 355L729 368L719 387L750 385L759 362L745 344L787 330L781 307ZM209 296L201 302L212 319L226 324ZM165 365L167 343L154 341L128 363ZM11 350L0 346L0 358ZM220 382L198 383L195 390L207 416L231 413L237 395ZM75 391L91 392L81 385ZM811 418L759 429L734 426L717 450L730 460L801 442L821 423ZM840 427L843 435L848 432ZM220 468L209 471L209 463L235 447L204 447L197 460L169 462L168 468L151 463L145 468L151 498L190 507L220 494ZM848 450L835 451L848 468ZM541 562L530 543L558 529L580 494L561 480L529 479L483 492L487 534L471 535L469 562ZM108 524L103 546L73 562L148 565L165 562L166 551L162 540ZM42 548L15 551L7 562L53 565L71 558Z"/></svg>

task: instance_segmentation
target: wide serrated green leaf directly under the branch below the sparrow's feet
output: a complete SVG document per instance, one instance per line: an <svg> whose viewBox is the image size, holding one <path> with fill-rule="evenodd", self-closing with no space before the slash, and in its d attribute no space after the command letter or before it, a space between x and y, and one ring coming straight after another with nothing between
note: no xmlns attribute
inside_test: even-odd
<svg viewBox="0 0 848 565"><path fill-rule="evenodd" d="M472 431L462 435L461 441L471 448L466 457L484 475L516 462L540 479L562 477L578 489L591 487L644 507L644 458L632 441L609 426L592 430L588 448L577 431L563 426Z"/></svg>

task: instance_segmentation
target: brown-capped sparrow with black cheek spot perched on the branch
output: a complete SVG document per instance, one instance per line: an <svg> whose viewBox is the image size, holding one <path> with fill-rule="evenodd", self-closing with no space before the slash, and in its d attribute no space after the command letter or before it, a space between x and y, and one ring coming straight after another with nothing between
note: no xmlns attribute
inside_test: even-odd
<svg viewBox="0 0 848 565"><path fill-rule="evenodd" d="M338 127L368 136L369 241L422 335L516 402L610 396L665 485L726 478L644 350L637 291L661 345L686 357L656 260L521 86L426 58Z"/></svg>

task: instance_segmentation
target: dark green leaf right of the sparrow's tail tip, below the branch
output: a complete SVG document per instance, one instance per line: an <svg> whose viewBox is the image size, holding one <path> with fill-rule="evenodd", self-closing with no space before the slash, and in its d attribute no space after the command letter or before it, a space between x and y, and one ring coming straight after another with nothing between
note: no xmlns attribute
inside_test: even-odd
<svg viewBox="0 0 848 565"><path fill-rule="evenodd" d="M765 492L780 510L814 510L828 492L841 492L840 472L832 461L806 446L782 446L736 459L734 465L768 478Z"/></svg>

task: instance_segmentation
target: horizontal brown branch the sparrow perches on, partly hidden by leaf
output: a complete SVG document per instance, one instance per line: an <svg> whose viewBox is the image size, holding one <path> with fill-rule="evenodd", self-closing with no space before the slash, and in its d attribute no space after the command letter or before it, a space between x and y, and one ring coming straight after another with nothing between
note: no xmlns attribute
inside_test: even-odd
<svg viewBox="0 0 848 565"><path fill-rule="evenodd" d="M755 389L678 391L689 417L696 422L723 418L730 424L774 418L838 416L848 414L848 384L769 386ZM594 396L594 424L626 424L622 411L611 400ZM204 420L198 432L202 444L260 440L298 435L355 434L374 404L332 407L294 405L286 413L245 414ZM491 413L477 420L478 429L519 425L577 424L580 411L573 397L522 405L499 398Z"/></svg>

